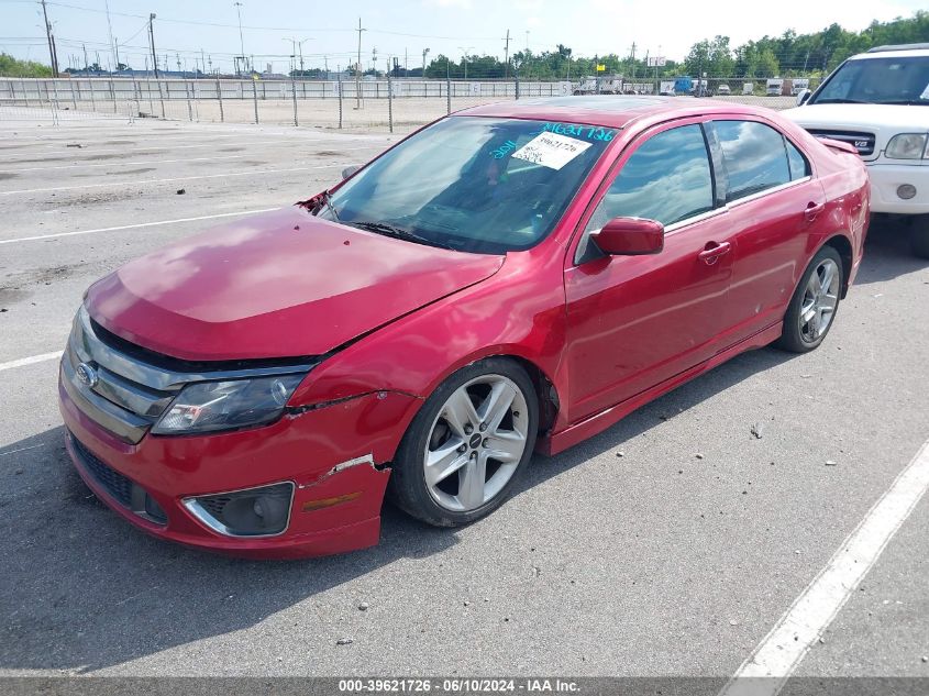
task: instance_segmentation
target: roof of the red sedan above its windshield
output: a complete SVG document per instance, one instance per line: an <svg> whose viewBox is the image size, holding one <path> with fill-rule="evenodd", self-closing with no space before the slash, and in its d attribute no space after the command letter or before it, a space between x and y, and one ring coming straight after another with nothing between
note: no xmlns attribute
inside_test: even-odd
<svg viewBox="0 0 929 696"><path fill-rule="evenodd" d="M648 117L684 118L712 113L756 114L760 112L760 109L745 104L694 97L593 95L498 101L463 109L456 111L455 115L564 121L621 129L631 121Z"/></svg>

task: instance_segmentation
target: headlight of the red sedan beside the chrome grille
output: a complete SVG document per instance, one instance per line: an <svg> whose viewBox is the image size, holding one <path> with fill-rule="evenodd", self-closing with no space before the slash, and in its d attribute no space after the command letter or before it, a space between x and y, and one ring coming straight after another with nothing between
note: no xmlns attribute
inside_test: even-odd
<svg viewBox="0 0 929 696"><path fill-rule="evenodd" d="M152 432L169 435L264 426L284 412L302 379L298 374L187 385Z"/></svg>

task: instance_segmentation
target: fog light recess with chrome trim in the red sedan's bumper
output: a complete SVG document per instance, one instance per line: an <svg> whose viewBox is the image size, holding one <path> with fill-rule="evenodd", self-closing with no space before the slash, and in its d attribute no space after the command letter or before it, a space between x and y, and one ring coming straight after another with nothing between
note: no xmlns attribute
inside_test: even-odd
<svg viewBox="0 0 929 696"><path fill-rule="evenodd" d="M186 507L207 527L225 537L274 537L287 529L294 484L186 498Z"/></svg>

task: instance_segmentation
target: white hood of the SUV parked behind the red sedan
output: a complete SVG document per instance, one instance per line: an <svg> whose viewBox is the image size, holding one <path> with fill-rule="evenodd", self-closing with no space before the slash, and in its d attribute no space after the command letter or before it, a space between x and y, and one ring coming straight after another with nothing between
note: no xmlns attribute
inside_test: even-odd
<svg viewBox="0 0 929 696"><path fill-rule="evenodd" d="M929 109L906 104L805 104L781 112L804 128L924 132Z"/></svg>

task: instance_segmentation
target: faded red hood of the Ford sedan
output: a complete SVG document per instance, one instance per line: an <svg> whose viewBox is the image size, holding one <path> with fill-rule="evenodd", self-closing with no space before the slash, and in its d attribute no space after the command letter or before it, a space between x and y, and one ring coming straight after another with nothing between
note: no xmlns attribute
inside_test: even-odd
<svg viewBox="0 0 929 696"><path fill-rule="evenodd" d="M90 316L188 361L321 355L494 275L504 256L378 235L294 207L137 258L88 291Z"/></svg>

